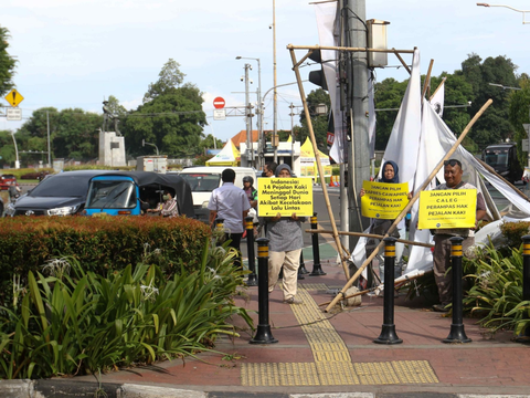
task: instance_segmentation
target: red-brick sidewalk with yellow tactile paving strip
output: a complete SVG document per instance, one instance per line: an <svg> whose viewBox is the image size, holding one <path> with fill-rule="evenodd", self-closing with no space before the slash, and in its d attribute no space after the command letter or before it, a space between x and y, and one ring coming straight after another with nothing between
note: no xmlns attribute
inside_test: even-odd
<svg viewBox="0 0 530 398"><path fill-rule="evenodd" d="M120 397L530 397L530 352L510 341L511 332L491 335L466 318L473 343L444 344L452 318L401 294L394 322L403 344L374 344L383 298L363 296L359 307L324 313L326 306L318 304L332 300L330 291L340 290L346 280L335 258L321 265L327 275L298 281L301 304L284 304L278 287L271 294L271 328L278 343L248 344L253 333L236 320L241 337L221 337L215 344L225 355L204 353L201 360L121 369L102 375L100 381L121 386ZM311 261L306 260L306 269L312 271ZM236 304L253 312L257 325L257 287L248 287ZM93 376L49 383L63 391L97 385ZM140 385L148 386L145 392L130 392Z"/></svg>

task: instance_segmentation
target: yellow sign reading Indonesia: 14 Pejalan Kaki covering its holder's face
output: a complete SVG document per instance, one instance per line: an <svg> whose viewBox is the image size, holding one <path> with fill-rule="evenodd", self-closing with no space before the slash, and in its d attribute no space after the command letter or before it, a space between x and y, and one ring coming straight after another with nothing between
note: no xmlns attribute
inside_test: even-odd
<svg viewBox="0 0 530 398"><path fill-rule="evenodd" d="M258 178L259 217L312 216L312 178Z"/></svg>

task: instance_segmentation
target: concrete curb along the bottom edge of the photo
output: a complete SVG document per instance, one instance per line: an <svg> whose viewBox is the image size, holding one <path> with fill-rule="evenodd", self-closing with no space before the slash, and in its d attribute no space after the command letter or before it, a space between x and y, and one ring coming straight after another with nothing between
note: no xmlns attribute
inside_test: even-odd
<svg viewBox="0 0 530 398"><path fill-rule="evenodd" d="M222 387L221 387L222 388ZM2 398L530 398L529 395L488 395L451 392L252 392L195 391L134 384L98 384L74 380L0 380Z"/></svg>

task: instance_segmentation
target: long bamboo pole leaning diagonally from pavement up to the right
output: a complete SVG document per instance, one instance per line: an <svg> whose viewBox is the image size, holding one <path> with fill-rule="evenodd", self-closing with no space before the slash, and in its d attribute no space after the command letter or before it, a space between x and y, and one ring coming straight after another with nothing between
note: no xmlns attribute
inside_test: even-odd
<svg viewBox="0 0 530 398"><path fill-rule="evenodd" d="M398 227L402 218L407 213L407 211L412 208L414 202L420 198L420 193L425 189L425 187L431 182L431 180L436 176L438 170L444 166L444 161L449 159L451 156L455 153L456 148L458 148L458 145L464 140L466 137L467 133L469 133L469 129L471 126L478 121L478 118L484 114L484 112L488 108L489 105L491 105L492 101L488 100L486 104L483 105L480 111L477 112L477 114L473 117L473 119L467 124L466 128L464 132L462 132L460 136L456 140L456 143L453 145L453 147L449 149L449 151L444 156L444 158L438 163L438 165L434 168L434 170L431 172L431 175L426 178L426 180L422 184L421 188L416 190L414 193L414 197L411 199L409 205L405 206L405 208L401 211L401 213L398 216L398 218L394 220L392 226L390 226L389 230L386 231L386 234L384 238L389 237L390 233ZM384 241L381 240L381 242L378 244L378 247L373 250L373 252L368 256L368 259L364 261L364 263L359 268L359 270L356 272L353 276L350 277L350 280L346 283L344 287L342 287L342 291L340 294L344 295L346 291L353 284L353 282L359 277L359 275L362 273L362 271L370 264L370 262L373 260L373 258L378 254L380 249L383 247ZM337 294L337 296L331 301L331 303L326 307L325 312L328 312L330 308L335 306L335 304L340 300L340 295Z"/></svg>

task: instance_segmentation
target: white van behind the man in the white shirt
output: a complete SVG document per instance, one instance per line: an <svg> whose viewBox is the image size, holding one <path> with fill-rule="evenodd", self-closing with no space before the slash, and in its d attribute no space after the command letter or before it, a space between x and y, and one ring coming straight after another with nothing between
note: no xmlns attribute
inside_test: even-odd
<svg viewBox="0 0 530 398"><path fill-rule="evenodd" d="M254 187L257 184L256 170L251 167L227 167L227 166L204 166L189 167L179 172L191 187L193 197L193 210L198 220L209 222L210 210L208 202L212 196L212 191L223 185L221 175L224 169L231 168L235 171L234 185L243 189L243 177L251 176L254 179Z"/></svg>

